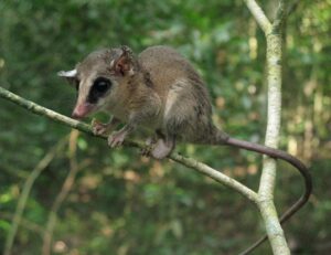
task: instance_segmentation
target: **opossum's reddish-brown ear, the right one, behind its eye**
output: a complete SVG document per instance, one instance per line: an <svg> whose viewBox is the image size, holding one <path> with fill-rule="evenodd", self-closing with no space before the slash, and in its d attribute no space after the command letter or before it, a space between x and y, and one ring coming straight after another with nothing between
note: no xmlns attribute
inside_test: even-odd
<svg viewBox="0 0 331 255"><path fill-rule="evenodd" d="M121 54L113 63L113 70L117 75L134 75L134 53L130 47L121 46Z"/></svg>

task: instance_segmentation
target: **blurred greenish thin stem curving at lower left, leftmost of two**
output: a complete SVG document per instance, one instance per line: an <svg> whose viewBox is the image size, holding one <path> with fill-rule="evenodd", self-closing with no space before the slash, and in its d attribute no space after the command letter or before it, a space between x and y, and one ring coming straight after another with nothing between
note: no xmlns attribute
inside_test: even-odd
<svg viewBox="0 0 331 255"><path fill-rule="evenodd" d="M11 229L6 238L3 255L11 254L11 248L12 248L19 225L21 223L22 215L23 215L23 212L25 209L25 204L26 204L26 201L30 195L30 192L31 192L34 181L42 173L42 171L51 163L51 161L54 159L54 157L57 155L57 152L62 150L64 145L65 145L65 139L62 139L55 147L53 147L50 150L50 152L46 153L46 156L32 170L32 172L28 177L26 181L24 182L24 185L22 189L22 194L18 201L18 206L17 206L17 210L15 210L13 219L12 219L12 225L11 225Z"/></svg>

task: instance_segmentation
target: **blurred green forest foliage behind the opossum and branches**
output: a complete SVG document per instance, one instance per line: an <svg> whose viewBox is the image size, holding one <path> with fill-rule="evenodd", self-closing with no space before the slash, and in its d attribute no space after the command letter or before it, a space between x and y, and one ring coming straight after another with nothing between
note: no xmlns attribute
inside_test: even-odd
<svg viewBox="0 0 331 255"><path fill-rule="evenodd" d="M266 43L243 2L2 0L0 85L70 115L76 93L57 71L100 47L139 53L167 44L203 76L215 123L264 142ZM271 18L277 1L258 2ZM331 2L289 2L279 146L310 166L314 190L285 232L293 254L330 254ZM258 188L259 155L192 145L177 151ZM301 193L301 177L278 162L278 212ZM0 251L12 243L12 254L25 255L237 254L263 233L256 208L222 184L136 149L110 150L0 99ZM270 254L269 244L254 254Z"/></svg>

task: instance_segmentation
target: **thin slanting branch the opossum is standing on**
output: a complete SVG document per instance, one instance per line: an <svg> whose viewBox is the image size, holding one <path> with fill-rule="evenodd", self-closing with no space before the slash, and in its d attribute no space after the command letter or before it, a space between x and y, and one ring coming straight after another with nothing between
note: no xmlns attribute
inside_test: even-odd
<svg viewBox="0 0 331 255"><path fill-rule="evenodd" d="M0 97L6 98L25 109L28 109L31 113L34 113L36 115L41 115L44 117L47 117L54 121L57 121L62 125L65 126L70 126L72 128L78 129L87 135L92 135L92 136L96 136L103 139L107 139L106 136L98 136L98 135L94 135L92 131L92 128L89 125L85 124L85 123L81 123L77 120L74 120L70 117L66 117L64 115L61 115L54 110L47 109L43 106L40 106L31 100L26 100L11 92L9 92L8 89L3 88L0 86ZM143 146L136 142L136 141L130 141L130 140L125 140L124 146L127 147L135 147L135 148L140 148L142 149ZM241 182L228 178L227 176L223 174L222 172L202 163L199 162L192 158L186 158L183 156L180 156L175 152L171 153L171 156L169 156L168 158L183 164L186 166L191 169L194 169L205 176L211 177L212 179L214 179L215 181L232 188L233 190L239 192L241 194L243 194L244 196L246 196L248 200L250 200L252 202L256 202L257 201L257 194L256 192L254 192L253 190L250 190L249 188L245 187L244 184L242 184Z"/></svg>

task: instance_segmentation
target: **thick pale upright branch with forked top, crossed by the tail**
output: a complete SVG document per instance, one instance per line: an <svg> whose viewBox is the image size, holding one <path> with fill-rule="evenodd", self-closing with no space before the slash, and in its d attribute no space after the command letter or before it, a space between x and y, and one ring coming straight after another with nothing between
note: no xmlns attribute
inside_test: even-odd
<svg viewBox="0 0 331 255"><path fill-rule="evenodd" d="M273 24L254 0L245 0L247 8L264 30L267 41L267 84L268 84L268 115L265 145L277 148L280 130L281 113L281 28L286 18L285 3L279 1L276 19ZM271 244L274 254L290 254L286 243L284 231L279 223L274 203L274 190L276 181L276 161L264 158L263 173L258 190L258 208L265 222L266 232ZM243 254L248 254L260 242L257 242Z"/></svg>

